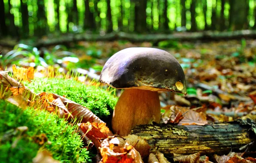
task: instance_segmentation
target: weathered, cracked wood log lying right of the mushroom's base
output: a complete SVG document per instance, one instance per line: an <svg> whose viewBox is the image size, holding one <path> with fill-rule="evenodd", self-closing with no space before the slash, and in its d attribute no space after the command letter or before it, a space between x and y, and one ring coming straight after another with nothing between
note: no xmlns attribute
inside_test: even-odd
<svg viewBox="0 0 256 163"><path fill-rule="evenodd" d="M213 124L205 126L174 126L171 124L140 125L131 134L146 139L150 151L163 154L225 154L255 142L250 126L239 124ZM255 144L255 143L254 143Z"/></svg>

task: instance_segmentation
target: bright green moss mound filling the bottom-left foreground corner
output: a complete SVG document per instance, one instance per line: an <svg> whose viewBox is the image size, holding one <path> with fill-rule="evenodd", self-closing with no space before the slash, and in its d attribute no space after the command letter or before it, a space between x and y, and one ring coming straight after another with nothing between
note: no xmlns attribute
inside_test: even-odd
<svg viewBox="0 0 256 163"><path fill-rule="evenodd" d="M27 126L21 134L17 127ZM43 110L26 109L0 100L0 160L6 163L29 163L40 148L52 153L61 162L91 162L89 152L83 148L76 133L77 126L70 125L57 115ZM43 145L35 137L45 134Z"/></svg>

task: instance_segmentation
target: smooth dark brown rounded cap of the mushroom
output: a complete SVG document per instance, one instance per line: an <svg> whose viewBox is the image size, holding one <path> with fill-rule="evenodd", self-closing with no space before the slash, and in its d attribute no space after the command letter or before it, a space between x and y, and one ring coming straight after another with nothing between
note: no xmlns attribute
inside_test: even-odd
<svg viewBox="0 0 256 163"><path fill-rule="evenodd" d="M186 94L180 63L157 48L126 48L105 63L100 81L117 89L174 91Z"/></svg>

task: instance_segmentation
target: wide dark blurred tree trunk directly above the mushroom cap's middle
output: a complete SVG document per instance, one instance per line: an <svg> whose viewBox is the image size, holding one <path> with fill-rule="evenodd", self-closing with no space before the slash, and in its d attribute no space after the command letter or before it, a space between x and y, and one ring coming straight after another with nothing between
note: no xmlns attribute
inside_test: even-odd
<svg viewBox="0 0 256 163"><path fill-rule="evenodd" d="M135 31L143 33L146 28L146 1L138 0L135 2Z"/></svg>

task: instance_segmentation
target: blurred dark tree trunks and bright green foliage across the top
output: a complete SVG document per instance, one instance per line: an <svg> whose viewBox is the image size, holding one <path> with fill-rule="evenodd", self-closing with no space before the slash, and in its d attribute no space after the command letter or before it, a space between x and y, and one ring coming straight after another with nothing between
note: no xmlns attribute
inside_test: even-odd
<svg viewBox="0 0 256 163"><path fill-rule="evenodd" d="M0 35L256 28L255 0L0 0Z"/></svg>

